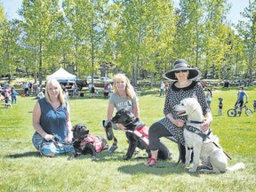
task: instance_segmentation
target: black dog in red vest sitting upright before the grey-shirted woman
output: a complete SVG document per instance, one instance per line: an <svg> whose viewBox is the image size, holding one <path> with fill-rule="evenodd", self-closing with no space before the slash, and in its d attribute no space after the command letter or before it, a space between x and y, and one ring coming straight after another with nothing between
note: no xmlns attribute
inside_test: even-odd
<svg viewBox="0 0 256 192"><path fill-rule="evenodd" d="M136 118L131 111L120 109L116 112L116 116L111 119L114 124L123 124L127 129L125 132L127 139L129 140L129 148L124 160L130 159L136 147L140 149L146 149L148 157L151 156L150 150L148 148L148 127L143 124L139 118ZM166 160L171 159L172 154L169 149L160 142L160 147L158 150L158 159Z"/></svg>

